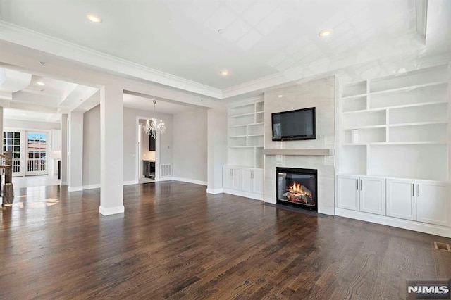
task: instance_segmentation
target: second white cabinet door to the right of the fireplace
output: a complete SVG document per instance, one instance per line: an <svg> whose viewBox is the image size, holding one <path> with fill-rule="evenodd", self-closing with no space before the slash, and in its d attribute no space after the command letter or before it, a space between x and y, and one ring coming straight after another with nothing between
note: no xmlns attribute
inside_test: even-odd
<svg viewBox="0 0 451 300"><path fill-rule="evenodd" d="M360 211L385 215L385 179L360 177Z"/></svg>

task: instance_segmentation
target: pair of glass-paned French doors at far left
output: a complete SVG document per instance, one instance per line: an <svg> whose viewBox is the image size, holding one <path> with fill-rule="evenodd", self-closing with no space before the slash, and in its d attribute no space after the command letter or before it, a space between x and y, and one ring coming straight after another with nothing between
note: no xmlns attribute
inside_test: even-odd
<svg viewBox="0 0 451 300"><path fill-rule="evenodd" d="M13 152L13 176L47 175L47 132L6 131L3 150Z"/></svg>

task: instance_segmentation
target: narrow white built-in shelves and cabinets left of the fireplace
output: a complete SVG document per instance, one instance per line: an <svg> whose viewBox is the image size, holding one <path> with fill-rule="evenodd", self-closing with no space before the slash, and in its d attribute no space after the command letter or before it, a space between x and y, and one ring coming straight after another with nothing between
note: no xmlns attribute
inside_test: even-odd
<svg viewBox="0 0 451 300"><path fill-rule="evenodd" d="M224 192L263 200L264 100L249 99L228 107L228 163Z"/></svg>

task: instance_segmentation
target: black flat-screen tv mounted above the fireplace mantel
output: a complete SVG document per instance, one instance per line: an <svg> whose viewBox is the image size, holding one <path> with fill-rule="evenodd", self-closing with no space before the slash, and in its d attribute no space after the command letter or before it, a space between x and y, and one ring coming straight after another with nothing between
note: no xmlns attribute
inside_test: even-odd
<svg viewBox="0 0 451 300"><path fill-rule="evenodd" d="M272 114L273 141L316 139L315 108Z"/></svg>

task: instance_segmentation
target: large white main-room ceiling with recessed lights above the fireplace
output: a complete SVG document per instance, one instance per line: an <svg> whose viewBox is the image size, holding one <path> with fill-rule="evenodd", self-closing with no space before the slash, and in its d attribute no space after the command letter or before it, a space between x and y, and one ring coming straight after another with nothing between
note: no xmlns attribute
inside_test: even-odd
<svg viewBox="0 0 451 300"><path fill-rule="evenodd" d="M308 77L337 66L424 50L424 41L416 35L415 4L415 0L0 0L0 18L228 89L291 68ZM447 20L450 12L445 8L431 11L428 22ZM91 23L87 13L101 16L102 23ZM318 33L325 28L334 32L323 39ZM434 28L436 46L450 46L443 43L450 40L449 31ZM230 75L219 75L223 69Z"/></svg>

